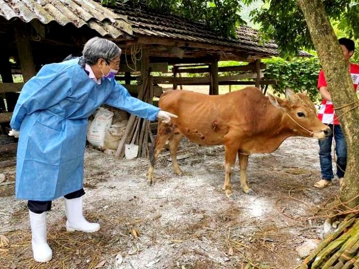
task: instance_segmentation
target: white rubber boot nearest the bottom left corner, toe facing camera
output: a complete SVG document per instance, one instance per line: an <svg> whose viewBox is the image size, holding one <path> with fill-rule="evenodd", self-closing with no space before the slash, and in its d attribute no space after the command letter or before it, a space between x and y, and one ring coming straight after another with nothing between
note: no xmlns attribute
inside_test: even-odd
<svg viewBox="0 0 359 269"><path fill-rule="evenodd" d="M32 234L32 252L37 262L47 262L52 259L52 250L47 244L46 212L41 214L29 210Z"/></svg>

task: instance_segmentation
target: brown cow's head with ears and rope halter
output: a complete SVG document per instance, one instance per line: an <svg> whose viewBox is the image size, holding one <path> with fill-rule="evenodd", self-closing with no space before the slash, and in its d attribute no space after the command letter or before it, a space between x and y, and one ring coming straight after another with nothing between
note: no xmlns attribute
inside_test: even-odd
<svg viewBox="0 0 359 269"><path fill-rule="evenodd" d="M270 94L268 94L268 98L274 107L284 111L287 116L285 125L296 135L323 139L331 134L330 128L318 119L314 104L307 96L307 91L295 94L287 88L285 100Z"/></svg>

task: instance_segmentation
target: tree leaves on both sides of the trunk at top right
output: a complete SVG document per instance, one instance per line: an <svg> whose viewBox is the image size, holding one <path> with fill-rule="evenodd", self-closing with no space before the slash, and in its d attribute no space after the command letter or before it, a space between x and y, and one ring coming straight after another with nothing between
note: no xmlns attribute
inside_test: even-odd
<svg viewBox="0 0 359 269"><path fill-rule="evenodd" d="M250 3L253 0L244 2ZM309 29L297 0L263 0L261 9L253 10L253 22L261 24L266 38L273 38L278 46L289 53L298 49L313 49ZM337 27L349 38L359 38L359 1L323 0L328 17L338 22ZM340 36L343 37L343 36Z"/></svg>

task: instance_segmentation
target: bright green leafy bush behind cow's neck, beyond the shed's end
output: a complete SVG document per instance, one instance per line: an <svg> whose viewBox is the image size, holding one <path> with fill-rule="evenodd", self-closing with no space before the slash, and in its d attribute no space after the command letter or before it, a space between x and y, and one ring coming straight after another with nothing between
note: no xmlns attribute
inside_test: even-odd
<svg viewBox="0 0 359 269"><path fill-rule="evenodd" d="M282 94L286 87L295 92L308 91L308 96L313 102L321 99L316 89L320 65L317 57L294 58L290 61L276 57L263 60L267 64L264 78L276 79L273 92Z"/></svg>

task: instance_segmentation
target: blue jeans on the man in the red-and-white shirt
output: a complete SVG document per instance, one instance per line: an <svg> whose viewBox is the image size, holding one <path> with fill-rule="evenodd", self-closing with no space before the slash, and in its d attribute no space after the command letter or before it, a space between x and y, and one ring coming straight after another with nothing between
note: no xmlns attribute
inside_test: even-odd
<svg viewBox="0 0 359 269"><path fill-rule="evenodd" d="M332 130L332 134L323 140L319 140L319 159L322 178L331 181L334 178L331 156L333 137L335 140L336 175L339 178L344 177L347 166L347 145L340 125L330 124L328 127Z"/></svg>

